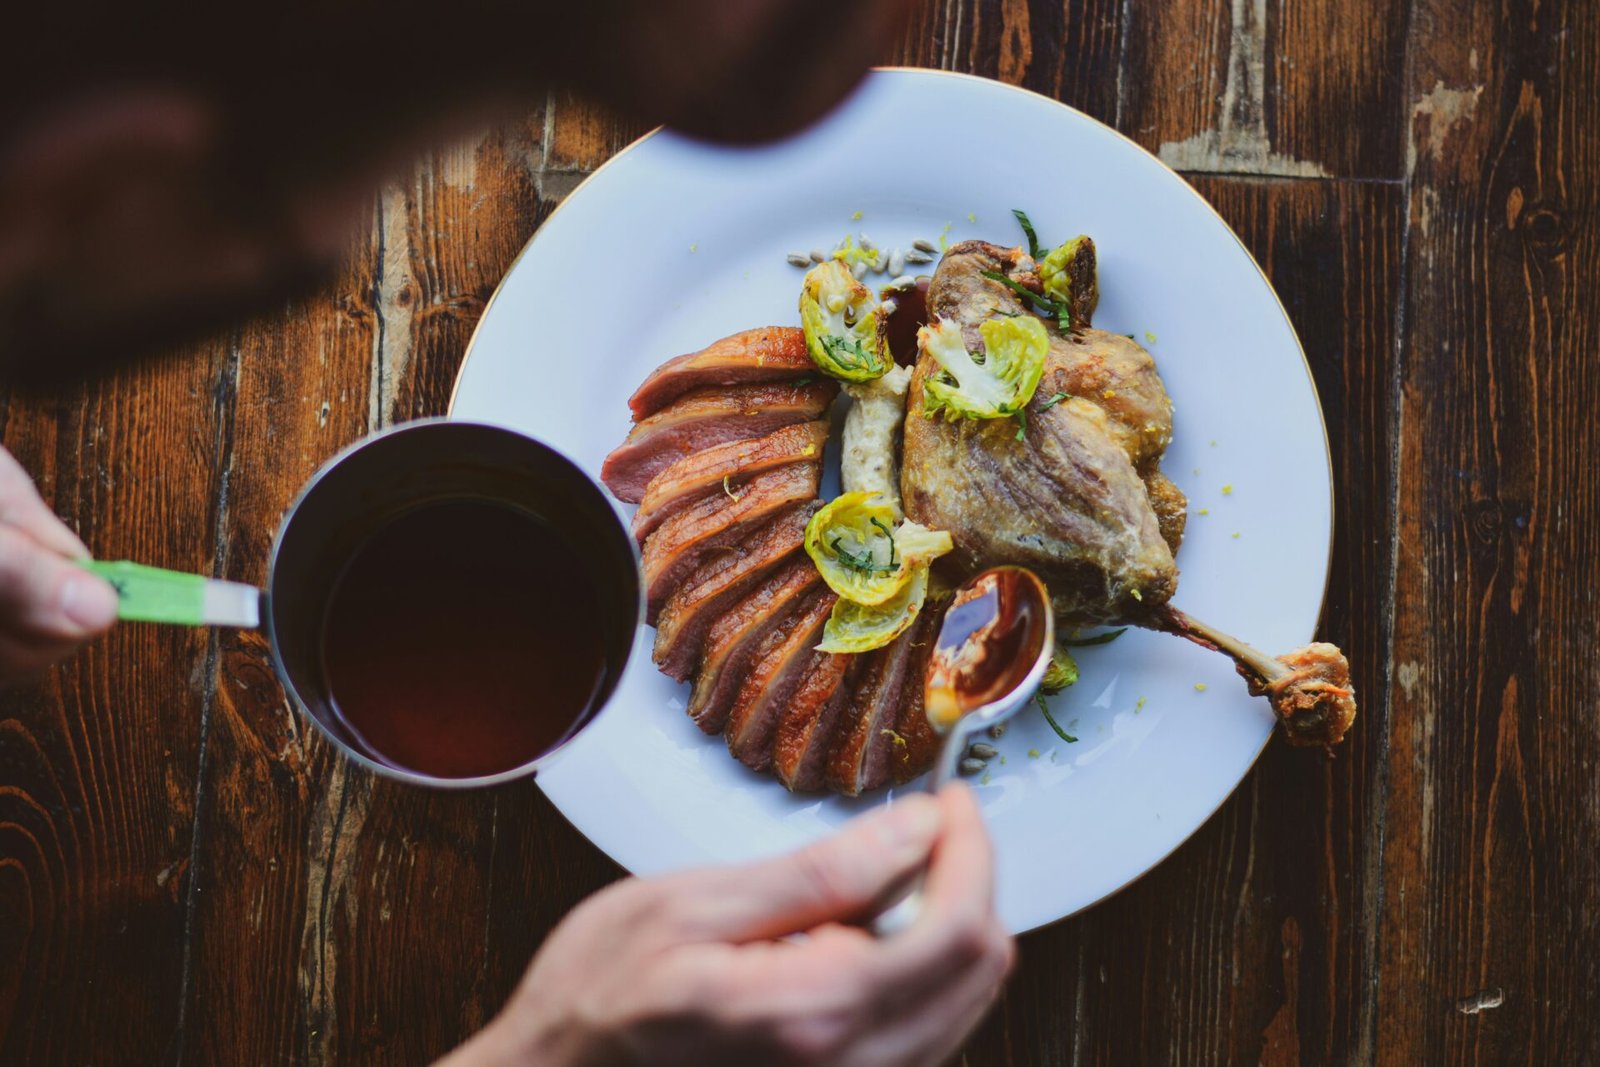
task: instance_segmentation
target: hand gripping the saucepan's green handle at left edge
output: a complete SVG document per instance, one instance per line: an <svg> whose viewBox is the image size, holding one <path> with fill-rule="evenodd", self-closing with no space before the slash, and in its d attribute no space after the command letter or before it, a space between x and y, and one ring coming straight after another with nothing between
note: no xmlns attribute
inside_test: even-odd
<svg viewBox="0 0 1600 1067"><path fill-rule="evenodd" d="M72 563L88 553L0 448L0 681L48 667L117 619L117 592Z"/></svg>

